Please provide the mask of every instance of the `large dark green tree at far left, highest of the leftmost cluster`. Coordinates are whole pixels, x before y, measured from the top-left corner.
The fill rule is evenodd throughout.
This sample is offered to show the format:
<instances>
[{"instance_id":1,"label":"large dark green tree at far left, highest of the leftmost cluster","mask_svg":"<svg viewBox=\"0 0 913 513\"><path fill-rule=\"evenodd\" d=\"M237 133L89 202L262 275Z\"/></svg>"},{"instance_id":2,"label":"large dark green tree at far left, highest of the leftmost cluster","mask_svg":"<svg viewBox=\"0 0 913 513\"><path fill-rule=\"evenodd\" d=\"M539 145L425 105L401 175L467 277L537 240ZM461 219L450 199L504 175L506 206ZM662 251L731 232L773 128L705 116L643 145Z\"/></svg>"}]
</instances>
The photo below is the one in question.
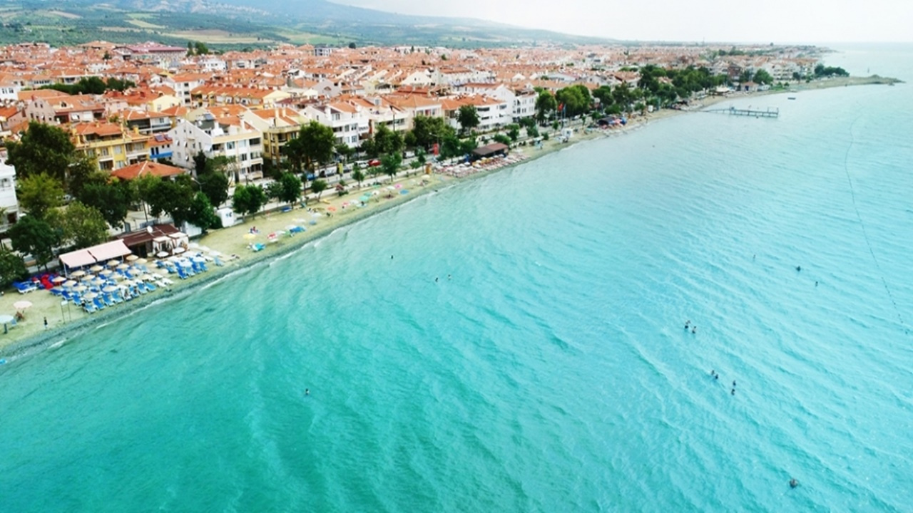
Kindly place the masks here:
<instances>
[{"instance_id":1,"label":"large dark green tree at far left, highest of the leftmost cluster","mask_svg":"<svg viewBox=\"0 0 913 513\"><path fill-rule=\"evenodd\" d=\"M6 142L6 163L16 167L21 180L35 174L47 174L66 183L67 168L73 162L76 148L69 134L58 127L28 122L28 130L18 142Z\"/></svg>"}]
</instances>

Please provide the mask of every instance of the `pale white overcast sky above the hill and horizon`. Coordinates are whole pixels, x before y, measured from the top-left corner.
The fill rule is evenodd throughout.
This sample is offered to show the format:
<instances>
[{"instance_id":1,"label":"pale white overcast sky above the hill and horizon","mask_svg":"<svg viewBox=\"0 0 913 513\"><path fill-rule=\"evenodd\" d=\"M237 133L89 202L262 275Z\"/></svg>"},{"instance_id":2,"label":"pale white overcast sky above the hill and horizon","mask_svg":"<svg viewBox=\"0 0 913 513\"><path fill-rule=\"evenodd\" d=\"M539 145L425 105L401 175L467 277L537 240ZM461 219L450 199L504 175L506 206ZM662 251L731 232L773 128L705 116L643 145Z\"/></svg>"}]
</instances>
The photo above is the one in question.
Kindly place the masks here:
<instances>
[{"instance_id":1,"label":"pale white overcast sky above the hill and horizon","mask_svg":"<svg viewBox=\"0 0 913 513\"><path fill-rule=\"evenodd\" d=\"M910 42L913 0L331 0L581 36L746 43Z\"/></svg>"}]
</instances>

